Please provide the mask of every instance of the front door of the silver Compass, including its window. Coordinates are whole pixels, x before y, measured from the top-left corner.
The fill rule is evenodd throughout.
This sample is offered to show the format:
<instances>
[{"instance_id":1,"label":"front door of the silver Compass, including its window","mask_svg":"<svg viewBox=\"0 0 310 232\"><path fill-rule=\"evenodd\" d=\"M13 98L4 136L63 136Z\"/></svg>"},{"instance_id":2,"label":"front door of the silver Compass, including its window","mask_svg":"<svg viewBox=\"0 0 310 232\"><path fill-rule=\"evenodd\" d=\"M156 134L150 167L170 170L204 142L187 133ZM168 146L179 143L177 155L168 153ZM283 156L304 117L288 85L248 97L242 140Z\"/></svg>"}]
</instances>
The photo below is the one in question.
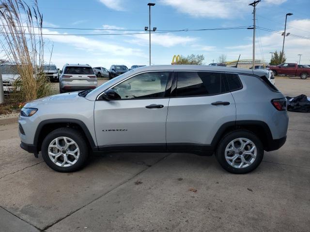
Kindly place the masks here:
<instances>
[{"instance_id":1,"label":"front door of the silver Compass, including its window","mask_svg":"<svg viewBox=\"0 0 310 232\"><path fill-rule=\"evenodd\" d=\"M165 149L172 72L137 74L111 87L121 100L97 100L94 126L100 150Z\"/></svg>"}]
</instances>

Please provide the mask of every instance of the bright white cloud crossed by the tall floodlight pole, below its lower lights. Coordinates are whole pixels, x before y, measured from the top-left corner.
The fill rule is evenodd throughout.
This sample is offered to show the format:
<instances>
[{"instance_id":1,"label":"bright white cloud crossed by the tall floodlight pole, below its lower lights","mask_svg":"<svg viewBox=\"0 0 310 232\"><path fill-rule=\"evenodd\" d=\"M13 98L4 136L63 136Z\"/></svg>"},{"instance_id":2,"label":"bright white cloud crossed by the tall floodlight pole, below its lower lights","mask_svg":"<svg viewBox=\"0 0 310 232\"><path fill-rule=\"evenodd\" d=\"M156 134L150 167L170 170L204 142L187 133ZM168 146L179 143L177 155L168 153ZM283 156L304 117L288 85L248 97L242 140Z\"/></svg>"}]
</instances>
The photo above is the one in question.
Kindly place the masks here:
<instances>
[{"instance_id":1,"label":"bright white cloud crossed by the tall floodlight pole, below its lower lights","mask_svg":"<svg viewBox=\"0 0 310 232\"><path fill-rule=\"evenodd\" d=\"M135 43L139 45L147 45L149 44L149 34L148 33L140 33L136 35L130 35L134 37L132 40L128 40L129 43ZM187 43L192 43L197 41L195 37L189 36L177 36L171 33L167 34L159 34L153 33L151 35L151 43L161 45L164 47L171 47L176 45L186 45Z\"/></svg>"}]
</instances>

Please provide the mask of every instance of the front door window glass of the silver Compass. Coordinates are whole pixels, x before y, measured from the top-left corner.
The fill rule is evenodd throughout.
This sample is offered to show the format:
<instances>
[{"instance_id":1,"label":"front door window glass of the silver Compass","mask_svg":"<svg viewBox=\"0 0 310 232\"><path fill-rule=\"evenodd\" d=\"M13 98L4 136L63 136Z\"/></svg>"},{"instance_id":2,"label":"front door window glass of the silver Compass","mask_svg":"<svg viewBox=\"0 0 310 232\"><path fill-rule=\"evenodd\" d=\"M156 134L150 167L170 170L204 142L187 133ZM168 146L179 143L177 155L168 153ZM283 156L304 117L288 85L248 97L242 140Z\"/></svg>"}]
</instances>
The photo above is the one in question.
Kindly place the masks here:
<instances>
[{"instance_id":1,"label":"front door window glass of the silver Compass","mask_svg":"<svg viewBox=\"0 0 310 232\"><path fill-rule=\"evenodd\" d=\"M136 75L113 87L121 99L163 98L171 72L152 72Z\"/></svg>"}]
</instances>

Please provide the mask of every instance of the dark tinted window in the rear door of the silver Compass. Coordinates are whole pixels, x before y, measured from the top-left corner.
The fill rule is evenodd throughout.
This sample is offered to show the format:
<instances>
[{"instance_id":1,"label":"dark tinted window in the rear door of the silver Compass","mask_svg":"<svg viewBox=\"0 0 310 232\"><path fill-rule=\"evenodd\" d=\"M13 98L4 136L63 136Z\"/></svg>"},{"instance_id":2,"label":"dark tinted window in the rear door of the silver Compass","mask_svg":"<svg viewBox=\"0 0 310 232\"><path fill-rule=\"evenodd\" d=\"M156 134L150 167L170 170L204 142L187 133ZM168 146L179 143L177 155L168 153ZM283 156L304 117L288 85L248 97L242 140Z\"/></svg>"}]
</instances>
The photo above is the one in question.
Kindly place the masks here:
<instances>
[{"instance_id":1,"label":"dark tinted window in the rear door of the silver Compass","mask_svg":"<svg viewBox=\"0 0 310 232\"><path fill-rule=\"evenodd\" d=\"M221 73L178 72L176 96L203 96L225 92Z\"/></svg>"}]
</instances>

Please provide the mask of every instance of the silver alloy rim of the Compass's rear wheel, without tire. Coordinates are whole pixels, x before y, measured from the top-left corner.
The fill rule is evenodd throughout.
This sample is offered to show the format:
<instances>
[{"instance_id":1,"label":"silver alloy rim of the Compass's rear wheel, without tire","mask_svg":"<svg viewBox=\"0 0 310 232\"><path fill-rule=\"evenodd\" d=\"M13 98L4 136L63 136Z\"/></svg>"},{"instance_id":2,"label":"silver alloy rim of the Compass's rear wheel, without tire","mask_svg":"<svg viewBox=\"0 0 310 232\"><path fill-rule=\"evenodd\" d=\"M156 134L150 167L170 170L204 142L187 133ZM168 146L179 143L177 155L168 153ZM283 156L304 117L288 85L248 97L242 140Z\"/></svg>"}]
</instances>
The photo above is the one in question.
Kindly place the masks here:
<instances>
[{"instance_id":1,"label":"silver alloy rim of the Compass's rear wheel, without tire","mask_svg":"<svg viewBox=\"0 0 310 232\"><path fill-rule=\"evenodd\" d=\"M225 148L225 159L234 168L250 166L257 156L255 144L246 138L237 138Z\"/></svg>"}]
</instances>

